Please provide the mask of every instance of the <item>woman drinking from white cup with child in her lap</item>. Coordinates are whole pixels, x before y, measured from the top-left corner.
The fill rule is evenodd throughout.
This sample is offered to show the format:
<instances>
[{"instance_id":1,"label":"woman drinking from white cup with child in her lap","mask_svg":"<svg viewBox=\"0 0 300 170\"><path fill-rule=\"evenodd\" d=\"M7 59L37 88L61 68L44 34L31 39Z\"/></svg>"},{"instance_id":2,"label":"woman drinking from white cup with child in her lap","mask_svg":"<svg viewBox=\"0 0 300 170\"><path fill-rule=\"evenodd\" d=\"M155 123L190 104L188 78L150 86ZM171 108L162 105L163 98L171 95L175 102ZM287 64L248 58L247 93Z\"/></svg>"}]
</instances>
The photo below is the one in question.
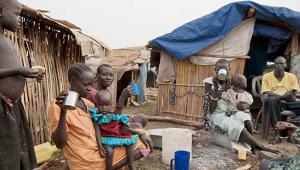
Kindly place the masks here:
<instances>
[{"instance_id":1,"label":"woman drinking from white cup with child in her lap","mask_svg":"<svg viewBox=\"0 0 300 170\"><path fill-rule=\"evenodd\" d=\"M225 78L218 77L223 72ZM224 71L225 70L225 71ZM252 97L245 92L247 81L243 75L229 78L230 63L225 59L216 62L217 76L207 78L204 97L204 121L215 130L227 133L230 140L248 143L253 150L272 151L254 138L249 112Z\"/></svg>"}]
</instances>

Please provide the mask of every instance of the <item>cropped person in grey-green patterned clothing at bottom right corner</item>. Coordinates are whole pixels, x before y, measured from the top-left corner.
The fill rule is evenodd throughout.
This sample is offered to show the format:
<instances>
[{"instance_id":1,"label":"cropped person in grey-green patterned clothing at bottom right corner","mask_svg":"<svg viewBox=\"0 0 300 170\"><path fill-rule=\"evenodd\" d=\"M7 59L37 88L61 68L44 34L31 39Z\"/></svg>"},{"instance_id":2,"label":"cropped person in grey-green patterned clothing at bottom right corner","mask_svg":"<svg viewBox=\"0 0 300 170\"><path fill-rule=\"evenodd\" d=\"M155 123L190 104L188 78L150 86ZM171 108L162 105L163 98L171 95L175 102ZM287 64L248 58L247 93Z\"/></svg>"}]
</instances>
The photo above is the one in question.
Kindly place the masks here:
<instances>
[{"instance_id":1,"label":"cropped person in grey-green patterned clothing at bottom right corner","mask_svg":"<svg viewBox=\"0 0 300 170\"><path fill-rule=\"evenodd\" d=\"M297 145L298 151L294 157L263 160L260 164L260 170L296 170L300 169L300 128L291 136L291 140Z\"/></svg>"}]
</instances>

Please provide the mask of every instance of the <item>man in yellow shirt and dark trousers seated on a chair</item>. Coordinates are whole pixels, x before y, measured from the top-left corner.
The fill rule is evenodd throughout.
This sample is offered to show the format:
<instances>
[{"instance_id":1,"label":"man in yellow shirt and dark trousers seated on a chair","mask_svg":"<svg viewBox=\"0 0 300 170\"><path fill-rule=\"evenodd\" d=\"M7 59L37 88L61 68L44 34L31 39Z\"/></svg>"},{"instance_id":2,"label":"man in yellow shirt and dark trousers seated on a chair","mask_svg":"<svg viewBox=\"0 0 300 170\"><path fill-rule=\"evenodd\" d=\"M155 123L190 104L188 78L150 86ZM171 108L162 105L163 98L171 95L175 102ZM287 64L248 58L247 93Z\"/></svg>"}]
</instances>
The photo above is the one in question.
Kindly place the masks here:
<instances>
[{"instance_id":1,"label":"man in yellow shirt and dark trousers seated on a chair","mask_svg":"<svg viewBox=\"0 0 300 170\"><path fill-rule=\"evenodd\" d=\"M280 113L283 110L300 114L300 102L296 101L300 90L298 80L293 73L285 72L286 68L286 59L279 56L274 60L274 71L262 77L264 112L270 117L273 127L281 120Z\"/></svg>"}]
</instances>

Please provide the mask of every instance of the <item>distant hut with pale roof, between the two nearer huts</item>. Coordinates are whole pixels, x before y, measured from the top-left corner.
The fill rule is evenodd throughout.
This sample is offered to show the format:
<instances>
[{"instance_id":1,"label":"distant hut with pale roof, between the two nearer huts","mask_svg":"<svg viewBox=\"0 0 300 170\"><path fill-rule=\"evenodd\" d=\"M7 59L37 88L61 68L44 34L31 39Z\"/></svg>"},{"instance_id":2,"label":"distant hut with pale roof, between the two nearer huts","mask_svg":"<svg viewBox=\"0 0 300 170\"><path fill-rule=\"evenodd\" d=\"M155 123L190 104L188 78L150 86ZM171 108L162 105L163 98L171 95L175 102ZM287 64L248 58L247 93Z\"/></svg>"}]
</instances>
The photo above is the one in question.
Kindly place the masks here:
<instances>
[{"instance_id":1,"label":"distant hut with pale roof, between the two nearer huts","mask_svg":"<svg viewBox=\"0 0 300 170\"><path fill-rule=\"evenodd\" d=\"M141 103L145 99L147 63L149 51L145 47L128 47L113 49L108 57L104 57L100 64L109 64L113 67L114 80L111 86L113 93L113 104L116 104L122 90L131 82L137 82L140 87L140 94L136 100ZM117 80L117 81L116 81Z\"/></svg>"}]
</instances>

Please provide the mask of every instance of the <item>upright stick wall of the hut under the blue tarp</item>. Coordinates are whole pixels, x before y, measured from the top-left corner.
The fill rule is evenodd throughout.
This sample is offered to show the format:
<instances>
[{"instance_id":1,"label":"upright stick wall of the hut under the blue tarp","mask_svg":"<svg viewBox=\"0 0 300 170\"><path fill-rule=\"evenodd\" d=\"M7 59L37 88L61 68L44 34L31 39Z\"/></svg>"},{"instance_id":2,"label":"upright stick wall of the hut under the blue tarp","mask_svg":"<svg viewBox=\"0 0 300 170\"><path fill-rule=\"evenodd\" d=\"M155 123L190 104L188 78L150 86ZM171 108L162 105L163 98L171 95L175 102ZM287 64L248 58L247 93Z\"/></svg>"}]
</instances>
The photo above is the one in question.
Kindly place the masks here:
<instances>
[{"instance_id":1,"label":"upright stick wall of the hut under the blue tarp","mask_svg":"<svg viewBox=\"0 0 300 170\"><path fill-rule=\"evenodd\" d=\"M242 74L245 58L231 61L231 75ZM186 120L199 120L203 116L204 85L202 81L215 74L213 65L195 65L189 59L174 60L176 84L158 84L158 113L173 114ZM175 100L174 97L176 96Z\"/></svg>"}]
</instances>

